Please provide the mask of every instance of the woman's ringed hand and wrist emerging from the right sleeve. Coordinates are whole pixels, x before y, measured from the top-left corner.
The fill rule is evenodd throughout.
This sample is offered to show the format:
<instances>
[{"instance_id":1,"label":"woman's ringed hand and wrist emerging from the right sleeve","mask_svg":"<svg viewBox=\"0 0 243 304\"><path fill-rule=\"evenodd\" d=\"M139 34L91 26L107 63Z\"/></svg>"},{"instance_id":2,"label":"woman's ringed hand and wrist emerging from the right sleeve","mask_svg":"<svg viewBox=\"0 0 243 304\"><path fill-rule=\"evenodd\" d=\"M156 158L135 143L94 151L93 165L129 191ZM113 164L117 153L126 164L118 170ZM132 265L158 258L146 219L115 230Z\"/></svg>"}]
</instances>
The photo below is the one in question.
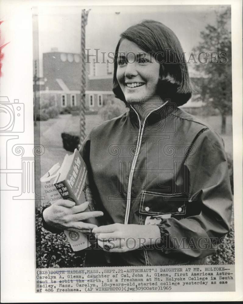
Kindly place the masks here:
<instances>
[{"instance_id":1,"label":"woman's ringed hand and wrist emerging from the right sleeve","mask_svg":"<svg viewBox=\"0 0 243 304\"><path fill-rule=\"evenodd\" d=\"M126 252L146 245L160 243L160 229L157 225L112 224L92 230L98 244L105 251Z\"/></svg>"}]
</instances>

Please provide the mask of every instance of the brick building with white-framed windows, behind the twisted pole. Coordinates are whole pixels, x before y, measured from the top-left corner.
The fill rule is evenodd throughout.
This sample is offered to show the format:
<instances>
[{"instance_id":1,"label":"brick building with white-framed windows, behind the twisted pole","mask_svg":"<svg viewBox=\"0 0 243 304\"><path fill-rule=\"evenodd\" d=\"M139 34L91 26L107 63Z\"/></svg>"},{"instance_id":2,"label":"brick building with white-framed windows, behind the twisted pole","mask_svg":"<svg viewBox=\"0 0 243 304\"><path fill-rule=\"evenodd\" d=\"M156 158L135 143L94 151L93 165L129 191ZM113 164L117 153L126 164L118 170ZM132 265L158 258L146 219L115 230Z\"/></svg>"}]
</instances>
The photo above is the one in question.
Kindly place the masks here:
<instances>
[{"instance_id":1,"label":"brick building with white-framed windows, behind the twisted pole","mask_svg":"<svg viewBox=\"0 0 243 304\"><path fill-rule=\"evenodd\" d=\"M90 70L93 76L90 76ZM40 102L55 100L59 111L79 106L81 62L79 54L57 51L43 54L43 78L40 84ZM95 76L92 64L86 64L86 109L97 112L108 101L115 99L113 78L109 73Z\"/></svg>"}]
</instances>

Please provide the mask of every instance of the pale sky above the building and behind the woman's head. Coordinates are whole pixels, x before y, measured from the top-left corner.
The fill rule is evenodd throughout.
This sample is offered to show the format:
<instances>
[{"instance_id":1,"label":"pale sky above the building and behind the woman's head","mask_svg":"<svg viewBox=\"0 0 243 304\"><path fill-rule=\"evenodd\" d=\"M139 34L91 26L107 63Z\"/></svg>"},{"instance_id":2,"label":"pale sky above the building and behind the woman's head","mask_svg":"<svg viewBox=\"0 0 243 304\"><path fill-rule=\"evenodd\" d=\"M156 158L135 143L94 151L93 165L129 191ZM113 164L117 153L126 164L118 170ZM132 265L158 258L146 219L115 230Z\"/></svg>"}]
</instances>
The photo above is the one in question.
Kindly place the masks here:
<instances>
[{"instance_id":1,"label":"pale sky above the building and behind the woman's head","mask_svg":"<svg viewBox=\"0 0 243 304\"><path fill-rule=\"evenodd\" d=\"M129 26L143 19L153 19L171 28L189 54L200 41L200 32L207 24L215 24L215 12L223 12L223 5L131 5L90 6L86 26L86 48L99 48L100 52L114 52L119 35ZM38 8L37 26L33 26L34 39L39 36L39 58L57 48L60 52L80 53L82 7ZM118 14L119 13L119 14ZM35 57L35 55L34 55ZM35 59L35 58L34 58ZM41 66L41 61L40 61ZM104 74L106 65L97 67ZM40 69L40 75L42 71ZM42 76L42 75L41 75Z\"/></svg>"}]
</instances>

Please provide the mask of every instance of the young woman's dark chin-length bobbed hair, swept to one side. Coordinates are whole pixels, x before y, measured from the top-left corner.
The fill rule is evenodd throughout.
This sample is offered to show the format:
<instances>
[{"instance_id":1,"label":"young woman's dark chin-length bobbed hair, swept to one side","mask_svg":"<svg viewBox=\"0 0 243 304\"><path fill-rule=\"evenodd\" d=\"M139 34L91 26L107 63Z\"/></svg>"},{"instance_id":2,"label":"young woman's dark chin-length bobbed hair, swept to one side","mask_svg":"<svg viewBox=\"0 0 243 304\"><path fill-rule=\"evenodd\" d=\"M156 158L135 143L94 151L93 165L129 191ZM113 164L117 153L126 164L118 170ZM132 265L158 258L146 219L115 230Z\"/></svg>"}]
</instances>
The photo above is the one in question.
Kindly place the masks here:
<instances>
[{"instance_id":1,"label":"young woman's dark chin-length bobbed hair, swept to one side","mask_svg":"<svg viewBox=\"0 0 243 304\"><path fill-rule=\"evenodd\" d=\"M127 104L116 78L118 50L123 39L136 43L153 57L156 54L160 63L160 81L157 87L157 95L160 98L170 99L177 106L183 105L191 98L192 87L181 43L171 29L154 20L144 20L130 26L121 34L114 57L113 92L116 98Z\"/></svg>"}]
</instances>

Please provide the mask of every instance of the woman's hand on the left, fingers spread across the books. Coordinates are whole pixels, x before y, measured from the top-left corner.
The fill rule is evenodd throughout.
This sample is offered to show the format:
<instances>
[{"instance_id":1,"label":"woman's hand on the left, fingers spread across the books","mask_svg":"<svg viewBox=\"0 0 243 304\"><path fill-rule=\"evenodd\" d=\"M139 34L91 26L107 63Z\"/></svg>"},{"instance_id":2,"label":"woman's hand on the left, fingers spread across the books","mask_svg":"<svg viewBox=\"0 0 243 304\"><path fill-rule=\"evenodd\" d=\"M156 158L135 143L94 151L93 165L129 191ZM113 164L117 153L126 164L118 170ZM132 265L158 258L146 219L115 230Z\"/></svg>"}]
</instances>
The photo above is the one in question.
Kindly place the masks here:
<instances>
[{"instance_id":1,"label":"woman's hand on the left, fingers spread across the books","mask_svg":"<svg viewBox=\"0 0 243 304\"><path fill-rule=\"evenodd\" d=\"M79 206L75 206L75 202L67 199L59 199L43 211L43 218L48 225L57 229L78 229L81 232L90 233L91 230L97 226L89 223L83 223L81 221L91 217L103 216L103 212L84 212L88 206L89 202L84 202Z\"/></svg>"}]
</instances>

